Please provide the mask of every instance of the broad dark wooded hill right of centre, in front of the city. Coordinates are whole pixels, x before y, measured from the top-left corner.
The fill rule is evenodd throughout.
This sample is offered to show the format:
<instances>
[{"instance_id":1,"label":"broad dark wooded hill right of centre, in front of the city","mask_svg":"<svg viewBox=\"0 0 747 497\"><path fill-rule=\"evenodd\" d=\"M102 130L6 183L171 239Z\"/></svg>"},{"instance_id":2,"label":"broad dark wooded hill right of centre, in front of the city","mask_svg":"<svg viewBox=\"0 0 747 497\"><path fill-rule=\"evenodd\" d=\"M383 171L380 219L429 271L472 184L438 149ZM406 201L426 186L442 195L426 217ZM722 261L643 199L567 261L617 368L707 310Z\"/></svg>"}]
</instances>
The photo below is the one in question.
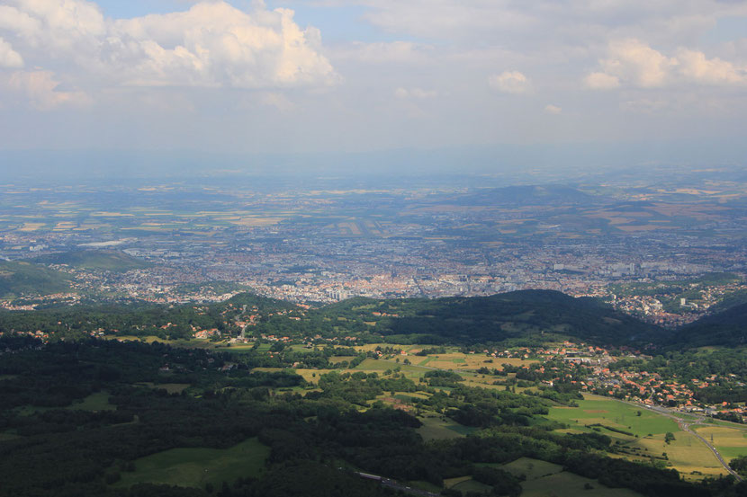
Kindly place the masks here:
<instances>
[{"instance_id":1,"label":"broad dark wooded hill right of centre, in front of the city","mask_svg":"<svg viewBox=\"0 0 747 497\"><path fill-rule=\"evenodd\" d=\"M611 307L550 290L522 290L491 297L375 300L354 298L322 309L327 315L375 321L389 339L479 343L512 338L542 340L558 334L622 345L662 337L661 328Z\"/></svg>"}]
</instances>

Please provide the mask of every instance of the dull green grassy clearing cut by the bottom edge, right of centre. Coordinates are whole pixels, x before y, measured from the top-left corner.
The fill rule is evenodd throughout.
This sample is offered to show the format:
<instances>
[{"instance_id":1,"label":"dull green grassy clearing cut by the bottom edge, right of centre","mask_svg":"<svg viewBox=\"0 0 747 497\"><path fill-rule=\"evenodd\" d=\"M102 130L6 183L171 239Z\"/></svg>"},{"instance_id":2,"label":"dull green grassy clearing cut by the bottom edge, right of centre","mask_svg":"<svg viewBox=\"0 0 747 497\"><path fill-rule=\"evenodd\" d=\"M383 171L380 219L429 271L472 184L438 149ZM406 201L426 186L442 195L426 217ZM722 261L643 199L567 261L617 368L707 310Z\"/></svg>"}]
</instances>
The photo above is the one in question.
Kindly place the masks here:
<instances>
[{"instance_id":1,"label":"dull green grassy clearing cut by the bottom edge, right of centre","mask_svg":"<svg viewBox=\"0 0 747 497\"><path fill-rule=\"evenodd\" d=\"M584 486L587 484L593 488L585 489ZM588 495L589 497L641 497L640 493L635 493L632 490L609 488L599 484L596 480L590 480L567 471L527 480L521 486L524 489L521 497L578 497L579 495Z\"/></svg>"}]
</instances>

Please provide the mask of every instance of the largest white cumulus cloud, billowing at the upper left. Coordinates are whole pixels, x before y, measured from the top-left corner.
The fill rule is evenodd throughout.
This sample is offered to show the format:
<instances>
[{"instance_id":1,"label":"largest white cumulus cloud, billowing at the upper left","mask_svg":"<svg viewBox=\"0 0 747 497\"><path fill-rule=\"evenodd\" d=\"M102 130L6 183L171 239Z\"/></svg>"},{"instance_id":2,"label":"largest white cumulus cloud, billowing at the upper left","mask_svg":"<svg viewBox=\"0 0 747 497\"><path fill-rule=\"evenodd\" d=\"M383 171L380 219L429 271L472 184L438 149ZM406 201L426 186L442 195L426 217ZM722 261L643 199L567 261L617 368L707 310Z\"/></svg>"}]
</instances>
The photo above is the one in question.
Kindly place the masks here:
<instances>
[{"instance_id":1,"label":"largest white cumulus cloud, billowing at the upper left","mask_svg":"<svg viewBox=\"0 0 747 497\"><path fill-rule=\"evenodd\" d=\"M293 11L251 13L222 1L185 12L105 18L85 0L8 0L0 33L29 63L66 67L66 81L102 86L287 88L335 84L320 31Z\"/></svg>"}]
</instances>

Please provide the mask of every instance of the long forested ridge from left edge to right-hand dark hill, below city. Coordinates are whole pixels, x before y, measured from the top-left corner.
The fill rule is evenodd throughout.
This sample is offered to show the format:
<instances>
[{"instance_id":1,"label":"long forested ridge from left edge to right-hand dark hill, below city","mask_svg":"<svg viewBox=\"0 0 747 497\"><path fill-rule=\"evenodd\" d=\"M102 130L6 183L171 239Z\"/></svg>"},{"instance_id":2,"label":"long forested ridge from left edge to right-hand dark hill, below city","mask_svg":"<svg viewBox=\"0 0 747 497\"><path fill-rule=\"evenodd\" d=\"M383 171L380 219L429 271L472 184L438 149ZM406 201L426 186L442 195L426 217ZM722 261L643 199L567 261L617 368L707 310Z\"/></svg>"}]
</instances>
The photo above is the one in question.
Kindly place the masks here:
<instances>
[{"instance_id":1,"label":"long forested ridge from left edge to right-hand dark hill, below city","mask_svg":"<svg viewBox=\"0 0 747 497\"><path fill-rule=\"evenodd\" d=\"M236 315L254 313L250 333L293 338L356 336L359 342L473 346L541 343L571 338L604 345L644 346L669 332L589 298L524 290L491 297L373 299L356 297L306 309L242 293L212 305L61 306L3 313L0 332L91 333L190 338L196 329L237 333Z\"/></svg>"}]
</instances>

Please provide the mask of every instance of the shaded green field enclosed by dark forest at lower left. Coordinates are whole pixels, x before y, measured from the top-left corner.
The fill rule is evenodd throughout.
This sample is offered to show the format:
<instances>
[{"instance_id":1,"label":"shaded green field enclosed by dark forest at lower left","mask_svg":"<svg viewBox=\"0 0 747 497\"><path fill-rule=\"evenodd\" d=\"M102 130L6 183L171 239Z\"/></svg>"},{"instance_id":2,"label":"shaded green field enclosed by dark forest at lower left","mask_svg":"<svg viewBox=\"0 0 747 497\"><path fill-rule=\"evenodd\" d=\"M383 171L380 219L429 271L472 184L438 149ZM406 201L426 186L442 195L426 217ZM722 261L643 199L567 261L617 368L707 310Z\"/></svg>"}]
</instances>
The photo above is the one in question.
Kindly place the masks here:
<instances>
[{"instance_id":1,"label":"shaded green field enclosed by dark forest at lower left","mask_svg":"<svg viewBox=\"0 0 747 497\"><path fill-rule=\"evenodd\" d=\"M133 484L169 484L203 488L239 477L257 477L270 449L257 439L247 439L231 448L172 448L135 461L133 473L121 473L116 487Z\"/></svg>"}]
</instances>

